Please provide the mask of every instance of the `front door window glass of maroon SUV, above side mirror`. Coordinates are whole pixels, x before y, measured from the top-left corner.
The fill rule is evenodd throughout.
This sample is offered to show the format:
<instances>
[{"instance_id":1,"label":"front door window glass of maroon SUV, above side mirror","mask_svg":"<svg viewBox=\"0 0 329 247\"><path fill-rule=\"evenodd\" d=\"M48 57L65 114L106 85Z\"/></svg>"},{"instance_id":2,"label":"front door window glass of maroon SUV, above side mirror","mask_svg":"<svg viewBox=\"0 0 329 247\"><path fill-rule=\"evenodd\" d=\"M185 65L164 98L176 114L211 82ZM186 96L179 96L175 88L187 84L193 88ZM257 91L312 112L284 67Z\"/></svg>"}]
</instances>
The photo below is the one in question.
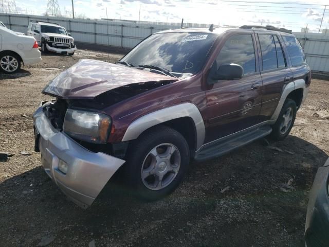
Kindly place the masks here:
<instances>
[{"instance_id":1,"label":"front door window glass of maroon SUV, above side mirror","mask_svg":"<svg viewBox=\"0 0 329 247\"><path fill-rule=\"evenodd\" d=\"M243 67L244 74L256 72L255 51L251 34L236 34L224 44L216 58L217 67L236 63Z\"/></svg>"}]
</instances>

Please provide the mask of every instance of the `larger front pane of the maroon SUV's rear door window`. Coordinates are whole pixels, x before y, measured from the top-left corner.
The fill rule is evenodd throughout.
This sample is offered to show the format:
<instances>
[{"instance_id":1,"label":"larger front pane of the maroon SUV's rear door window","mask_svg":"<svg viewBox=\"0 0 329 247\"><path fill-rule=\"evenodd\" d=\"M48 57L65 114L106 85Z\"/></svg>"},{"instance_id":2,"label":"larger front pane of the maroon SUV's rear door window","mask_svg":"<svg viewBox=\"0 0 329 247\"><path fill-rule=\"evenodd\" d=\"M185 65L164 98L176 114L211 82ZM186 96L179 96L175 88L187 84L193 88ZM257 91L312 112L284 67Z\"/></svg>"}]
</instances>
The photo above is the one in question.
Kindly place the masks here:
<instances>
[{"instance_id":1,"label":"larger front pane of the maroon SUV's rear door window","mask_svg":"<svg viewBox=\"0 0 329 247\"><path fill-rule=\"evenodd\" d=\"M262 51L263 70L278 68L276 45L271 34L258 34Z\"/></svg>"}]
</instances>

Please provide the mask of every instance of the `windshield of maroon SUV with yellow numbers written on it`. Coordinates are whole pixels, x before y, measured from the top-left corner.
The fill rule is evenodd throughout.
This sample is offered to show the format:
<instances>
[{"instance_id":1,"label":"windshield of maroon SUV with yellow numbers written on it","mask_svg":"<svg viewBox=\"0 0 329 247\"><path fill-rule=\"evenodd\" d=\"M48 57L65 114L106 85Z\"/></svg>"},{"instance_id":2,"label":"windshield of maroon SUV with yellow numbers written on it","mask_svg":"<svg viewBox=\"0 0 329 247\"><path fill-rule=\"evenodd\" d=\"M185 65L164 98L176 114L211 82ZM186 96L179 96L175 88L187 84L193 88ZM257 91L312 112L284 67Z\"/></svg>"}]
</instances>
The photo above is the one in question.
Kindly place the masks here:
<instances>
[{"instance_id":1,"label":"windshield of maroon SUV with yellow numbers written on it","mask_svg":"<svg viewBox=\"0 0 329 247\"><path fill-rule=\"evenodd\" d=\"M121 61L134 66L153 65L172 73L195 75L204 65L216 34L170 32L153 34Z\"/></svg>"}]
</instances>

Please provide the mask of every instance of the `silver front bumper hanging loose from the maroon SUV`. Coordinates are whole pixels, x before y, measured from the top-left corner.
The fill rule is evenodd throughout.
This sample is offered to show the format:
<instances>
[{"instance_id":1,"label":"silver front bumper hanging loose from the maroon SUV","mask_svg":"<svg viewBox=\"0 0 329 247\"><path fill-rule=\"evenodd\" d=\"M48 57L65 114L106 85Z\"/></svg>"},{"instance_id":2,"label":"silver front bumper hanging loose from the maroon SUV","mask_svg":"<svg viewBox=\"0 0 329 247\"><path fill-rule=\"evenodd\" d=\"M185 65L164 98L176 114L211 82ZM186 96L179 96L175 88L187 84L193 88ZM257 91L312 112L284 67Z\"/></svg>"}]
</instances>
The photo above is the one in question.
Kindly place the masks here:
<instances>
[{"instance_id":1,"label":"silver front bumper hanging loose from the maroon SUV","mask_svg":"<svg viewBox=\"0 0 329 247\"><path fill-rule=\"evenodd\" d=\"M90 206L107 181L125 162L105 153L91 152L49 122L42 107L33 114L42 165L49 177L68 198L79 206ZM68 164L66 174L58 169L59 161Z\"/></svg>"}]
</instances>

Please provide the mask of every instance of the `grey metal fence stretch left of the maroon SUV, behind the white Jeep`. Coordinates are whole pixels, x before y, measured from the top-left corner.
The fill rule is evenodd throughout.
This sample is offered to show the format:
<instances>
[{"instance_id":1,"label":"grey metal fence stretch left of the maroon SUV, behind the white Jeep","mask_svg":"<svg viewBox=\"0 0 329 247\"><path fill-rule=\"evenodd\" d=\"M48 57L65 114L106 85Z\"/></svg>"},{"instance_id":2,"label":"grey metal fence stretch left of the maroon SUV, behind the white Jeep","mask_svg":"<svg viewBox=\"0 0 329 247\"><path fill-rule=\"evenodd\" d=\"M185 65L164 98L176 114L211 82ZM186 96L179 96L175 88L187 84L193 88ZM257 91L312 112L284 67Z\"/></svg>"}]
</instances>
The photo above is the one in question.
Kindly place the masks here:
<instances>
[{"instance_id":1,"label":"grey metal fence stretch left of the maroon SUV, behind the white Jeep","mask_svg":"<svg viewBox=\"0 0 329 247\"><path fill-rule=\"evenodd\" d=\"M25 34L31 20L58 23L65 27L77 42L124 48L134 47L154 32L179 28L179 26L173 25L135 24L120 21L0 13L0 21L9 29L24 32Z\"/></svg>"}]
</instances>

